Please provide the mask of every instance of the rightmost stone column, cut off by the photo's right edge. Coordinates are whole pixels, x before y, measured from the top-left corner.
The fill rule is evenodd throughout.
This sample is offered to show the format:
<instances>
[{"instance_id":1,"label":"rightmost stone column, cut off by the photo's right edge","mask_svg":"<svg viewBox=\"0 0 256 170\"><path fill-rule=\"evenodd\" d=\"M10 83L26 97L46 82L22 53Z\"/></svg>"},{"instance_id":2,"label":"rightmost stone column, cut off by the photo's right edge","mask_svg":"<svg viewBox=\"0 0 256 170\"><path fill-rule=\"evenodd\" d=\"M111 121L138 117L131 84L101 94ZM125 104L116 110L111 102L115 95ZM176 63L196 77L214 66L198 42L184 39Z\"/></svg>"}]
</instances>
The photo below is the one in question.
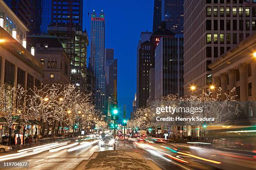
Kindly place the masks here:
<instances>
[{"instance_id":1,"label":"rightmost stone column, cut off by the photo's right edge","mask_svg":"<svg viewBox=\"0 0 256 170\"><path fill-rule=\"evenodd\" d=\"M251 62L251 97L252 97L252 107L253 107L253 117L256 117L256 62L253 60Z\"/></svg>"}]
</instances>

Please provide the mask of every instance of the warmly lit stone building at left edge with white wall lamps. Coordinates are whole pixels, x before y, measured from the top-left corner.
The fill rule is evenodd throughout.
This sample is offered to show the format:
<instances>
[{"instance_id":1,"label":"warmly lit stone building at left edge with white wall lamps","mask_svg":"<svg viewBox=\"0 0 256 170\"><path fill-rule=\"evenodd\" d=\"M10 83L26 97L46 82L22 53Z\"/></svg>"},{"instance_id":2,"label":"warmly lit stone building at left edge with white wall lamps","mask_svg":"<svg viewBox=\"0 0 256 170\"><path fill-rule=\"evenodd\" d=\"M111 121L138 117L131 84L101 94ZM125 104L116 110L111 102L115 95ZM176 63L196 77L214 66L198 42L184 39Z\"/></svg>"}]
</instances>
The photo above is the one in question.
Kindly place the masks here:
<instances>
[{"instance_id":1,"label":"warmly lit stone building at left edge with white wall lamps","mask_svg":"<svg viewBox=\"0 0 256 170\"><path fill-rule=\"evenodd\" d=\"M5 87L21 85L25 90L41 88L44 72L41 62L26 50L26 35L29 29L19 20L8 5L0 1L0 84ZM15 121L14 130L20 122ZM31 120L25 135L40 133L41 122ZM0 115L0 137L8 134L8 125ZM16 134L18 135L18 134ZM20 137L23 138L23 132ZM22 140L22 139L21 139Z\"/></svg>"}]
</instances>

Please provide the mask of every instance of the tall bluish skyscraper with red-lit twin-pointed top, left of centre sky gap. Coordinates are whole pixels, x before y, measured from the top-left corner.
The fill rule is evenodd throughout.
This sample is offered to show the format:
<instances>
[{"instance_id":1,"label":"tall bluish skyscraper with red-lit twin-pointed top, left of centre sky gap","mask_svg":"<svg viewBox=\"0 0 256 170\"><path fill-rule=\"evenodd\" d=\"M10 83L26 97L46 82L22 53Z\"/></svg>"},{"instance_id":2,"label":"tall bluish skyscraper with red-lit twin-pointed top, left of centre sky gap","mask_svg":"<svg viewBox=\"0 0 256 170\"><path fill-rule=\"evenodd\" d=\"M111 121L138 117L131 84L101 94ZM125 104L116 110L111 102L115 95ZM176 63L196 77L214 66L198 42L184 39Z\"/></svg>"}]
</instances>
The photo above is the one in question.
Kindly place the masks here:
<instances>
[{"instance_id":1,"label":"tall bluish skyscraper with red-lit twin-pointed top, left of centre sky gap","mask_svg":"<svg viewBox=\"0 0 256 170\"><path fill-rule=\"evenodd\" d=\"M97 17L95 10L91 15L91 50L90 66L92 67L96 78L96 106L102 112L107 114L105 108L105 15L101 11Z\"/></svg>"}]
</instances>

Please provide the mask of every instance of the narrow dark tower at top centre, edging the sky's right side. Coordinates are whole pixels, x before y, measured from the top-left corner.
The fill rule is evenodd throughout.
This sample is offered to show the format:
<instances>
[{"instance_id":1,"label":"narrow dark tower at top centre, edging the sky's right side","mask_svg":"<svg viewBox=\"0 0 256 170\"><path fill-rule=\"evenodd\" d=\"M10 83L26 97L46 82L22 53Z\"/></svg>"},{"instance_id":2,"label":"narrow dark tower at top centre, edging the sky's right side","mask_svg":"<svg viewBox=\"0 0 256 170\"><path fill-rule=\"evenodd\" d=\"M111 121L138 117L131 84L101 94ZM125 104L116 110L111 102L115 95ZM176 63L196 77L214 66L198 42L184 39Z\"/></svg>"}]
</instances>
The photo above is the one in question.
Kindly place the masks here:
<instances>
[{"instance_id":1,"label":"narrow dark tower at top centre, edging the sky's right side","mask_svg":"<svg viewBox=\"0 0 256 170\"><path fill-rule=\"evenodd\" d=\"M162 22L162 0L154 1L153 32L160 28Z\"/></svg>"}]
</instances>

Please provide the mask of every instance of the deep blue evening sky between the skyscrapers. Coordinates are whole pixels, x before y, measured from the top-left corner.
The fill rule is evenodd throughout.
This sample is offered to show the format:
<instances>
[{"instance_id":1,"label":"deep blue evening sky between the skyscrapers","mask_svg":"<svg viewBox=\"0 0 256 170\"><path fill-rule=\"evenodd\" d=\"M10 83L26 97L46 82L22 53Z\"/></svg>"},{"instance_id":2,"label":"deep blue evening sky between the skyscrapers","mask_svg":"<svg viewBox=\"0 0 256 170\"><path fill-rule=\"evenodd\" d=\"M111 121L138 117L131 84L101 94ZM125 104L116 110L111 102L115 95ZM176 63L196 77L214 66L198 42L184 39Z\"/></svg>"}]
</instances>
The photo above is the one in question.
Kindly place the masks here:
<instances>
[{"instance_id":1,"label":"deep blue evening sky between the skyscrapers","mask_svg":"<svg viewBox=\"0 0 256 170\"><path fill-rule=\"evenodd\" d=\"M105 48L114 48L114 57L118 59L118 108L123 114L126 105L126 117L130 118L136 93L137 44L141 31L152 31L154 0L84 0L83 26L89 41L90 16L94 9L97 16L101 10L105 13ZM88 61L90 46L87 51Z\"/></svg>"}]
</instances>

